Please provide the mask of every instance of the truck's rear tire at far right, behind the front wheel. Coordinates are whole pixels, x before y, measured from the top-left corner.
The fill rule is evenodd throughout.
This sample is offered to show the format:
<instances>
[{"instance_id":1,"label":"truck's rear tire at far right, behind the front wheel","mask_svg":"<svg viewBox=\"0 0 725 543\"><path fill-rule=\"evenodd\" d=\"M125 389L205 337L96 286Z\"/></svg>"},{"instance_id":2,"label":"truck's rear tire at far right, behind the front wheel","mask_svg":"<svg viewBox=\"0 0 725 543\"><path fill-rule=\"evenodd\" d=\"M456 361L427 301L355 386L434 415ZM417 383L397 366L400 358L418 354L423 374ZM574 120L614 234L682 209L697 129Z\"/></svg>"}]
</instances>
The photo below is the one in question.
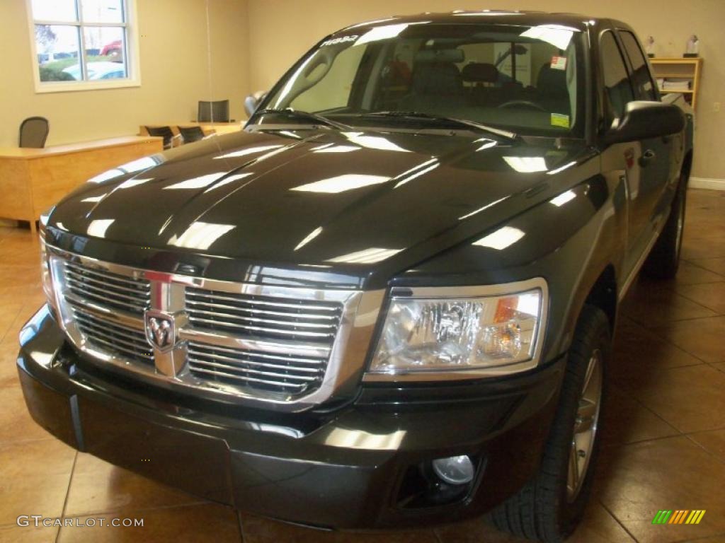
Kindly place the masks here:
<instances>
[{"instance_id":1,"label":"truck's rear tire at far right, behind the front wheel","mask_svg":"<svg viewBox=\"0 0 725 543\"><path fill-rule=\"evenodd\" d=\"M672 201L672 210L665 227L660 232L655 246L647 256L642 271L648 277L672 279L679 269L682 234L684 232L684 214L687 204L687 183L681 180L677 194Z\"/></svg>"}]
</instances>

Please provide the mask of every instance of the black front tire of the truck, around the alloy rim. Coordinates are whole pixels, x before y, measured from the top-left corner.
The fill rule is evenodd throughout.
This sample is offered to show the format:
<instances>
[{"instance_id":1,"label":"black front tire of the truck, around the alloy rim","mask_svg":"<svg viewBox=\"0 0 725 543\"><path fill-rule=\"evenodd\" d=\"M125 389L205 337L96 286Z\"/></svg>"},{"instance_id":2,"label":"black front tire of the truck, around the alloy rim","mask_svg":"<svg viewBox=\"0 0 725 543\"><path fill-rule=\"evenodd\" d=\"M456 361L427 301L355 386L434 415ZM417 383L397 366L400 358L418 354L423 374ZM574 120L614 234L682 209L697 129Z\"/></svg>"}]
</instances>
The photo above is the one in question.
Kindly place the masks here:
<instances>
[{"instance_id":1,"label":"black front tire of the truck, around the alloy rim","mask_svg":"<svg viewBox=\"0 0 725 543\"><path fill-rule=\"evenodd\" d=\"M590 361L597 352L601 355L601 386L595 432L581 484L570 495L568 468L575 439L574 426L581 420L577 416L580 402L584 401L582 388L587 380ZM563 542L576 529L592 489L601 434L601 406L605 400L605 371L610 356L611 333L607 316L600 308L584 306L568 353L559 405L539 473L518 494L492 511L490 518L498 529L545 543ZM581 456L575 458L579 461Z\"/></svg>"}]
</instances>

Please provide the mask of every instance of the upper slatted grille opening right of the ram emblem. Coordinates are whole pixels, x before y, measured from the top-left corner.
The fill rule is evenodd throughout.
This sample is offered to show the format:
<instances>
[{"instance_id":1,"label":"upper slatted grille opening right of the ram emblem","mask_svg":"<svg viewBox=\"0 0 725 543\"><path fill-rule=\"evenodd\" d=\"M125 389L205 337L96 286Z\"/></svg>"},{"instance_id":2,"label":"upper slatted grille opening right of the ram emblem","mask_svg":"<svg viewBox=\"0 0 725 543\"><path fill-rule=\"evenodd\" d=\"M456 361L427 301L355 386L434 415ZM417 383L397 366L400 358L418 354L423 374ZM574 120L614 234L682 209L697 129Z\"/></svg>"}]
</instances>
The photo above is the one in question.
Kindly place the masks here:
<instances>
[{"instance_id":1,"label":"upper slatted grille opening right of the ram emblem","mask_svg":"<svg viewBox=\"0 0 725 543\"><path fill-rule=\"evenodd\" d=\"M342 304L189 288L186 312L197 329L331 345L340 324Z\"/></svg>"}]
</instances>

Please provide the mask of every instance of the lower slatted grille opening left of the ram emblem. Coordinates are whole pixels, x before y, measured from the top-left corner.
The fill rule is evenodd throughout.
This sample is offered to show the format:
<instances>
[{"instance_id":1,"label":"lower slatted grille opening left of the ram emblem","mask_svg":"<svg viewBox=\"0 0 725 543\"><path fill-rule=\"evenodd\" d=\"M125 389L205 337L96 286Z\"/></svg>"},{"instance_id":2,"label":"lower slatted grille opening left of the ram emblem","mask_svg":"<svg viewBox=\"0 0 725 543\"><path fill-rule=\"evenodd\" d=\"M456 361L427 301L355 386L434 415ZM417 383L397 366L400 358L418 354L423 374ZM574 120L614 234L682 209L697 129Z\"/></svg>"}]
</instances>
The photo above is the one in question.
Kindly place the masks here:
<instances>
[{"instance_id":1,"label":"lower slatted grille opening left of the ram emblem","mask_svg":"<svg viewBox=\"0 0 725 543\"><path fill-rule=\"evenodd\" d=\"M154 353L143 331L101 319L75 304L72 311L78 329L94 348L154 365Z\"/></svg>"}]
</instances>

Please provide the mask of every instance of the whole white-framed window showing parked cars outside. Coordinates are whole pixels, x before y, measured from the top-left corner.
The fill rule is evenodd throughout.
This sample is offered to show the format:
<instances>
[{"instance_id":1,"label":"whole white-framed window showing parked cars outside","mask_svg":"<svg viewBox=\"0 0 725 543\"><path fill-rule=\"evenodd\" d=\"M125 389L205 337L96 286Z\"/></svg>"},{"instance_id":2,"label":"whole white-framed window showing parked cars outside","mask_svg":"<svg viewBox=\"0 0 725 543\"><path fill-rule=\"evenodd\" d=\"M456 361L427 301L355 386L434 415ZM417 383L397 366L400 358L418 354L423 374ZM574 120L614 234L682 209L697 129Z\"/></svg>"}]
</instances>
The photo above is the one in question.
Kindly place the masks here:
<instances>
[{"instance_id":1,"label":"whole white-framed window showing parked cars outside","mask_svg":"<svg viewBox=\"0 0 725 543\"><path fill-rule=\"evenodd\" d=\"M28 0L36 88L80 90L138 84L130 0Z\"/></svg>"}]
</instances>

